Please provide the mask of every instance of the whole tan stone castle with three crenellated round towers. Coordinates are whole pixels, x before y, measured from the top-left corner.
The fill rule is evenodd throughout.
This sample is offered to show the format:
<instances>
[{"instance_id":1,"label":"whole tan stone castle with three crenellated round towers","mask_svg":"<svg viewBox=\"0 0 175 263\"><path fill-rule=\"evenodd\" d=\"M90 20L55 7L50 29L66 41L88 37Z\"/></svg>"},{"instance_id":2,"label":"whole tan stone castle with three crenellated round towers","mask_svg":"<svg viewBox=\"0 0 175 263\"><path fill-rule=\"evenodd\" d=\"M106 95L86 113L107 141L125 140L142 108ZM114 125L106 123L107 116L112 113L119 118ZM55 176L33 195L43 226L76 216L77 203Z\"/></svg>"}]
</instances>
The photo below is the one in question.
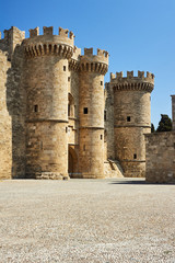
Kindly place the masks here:
<instances>
[{"instance_id":1,"label":"whole tan stone castle with three crenellated round towers","mask_svg":"<svg viewBox=\"0 0 175 263\"><path fill-rule=\"evenodd\" d=\"M154 75L112 73L104 89L107 52L43 31L0 39L0 178L144 176Z\"/></svg>"}]
</instances>

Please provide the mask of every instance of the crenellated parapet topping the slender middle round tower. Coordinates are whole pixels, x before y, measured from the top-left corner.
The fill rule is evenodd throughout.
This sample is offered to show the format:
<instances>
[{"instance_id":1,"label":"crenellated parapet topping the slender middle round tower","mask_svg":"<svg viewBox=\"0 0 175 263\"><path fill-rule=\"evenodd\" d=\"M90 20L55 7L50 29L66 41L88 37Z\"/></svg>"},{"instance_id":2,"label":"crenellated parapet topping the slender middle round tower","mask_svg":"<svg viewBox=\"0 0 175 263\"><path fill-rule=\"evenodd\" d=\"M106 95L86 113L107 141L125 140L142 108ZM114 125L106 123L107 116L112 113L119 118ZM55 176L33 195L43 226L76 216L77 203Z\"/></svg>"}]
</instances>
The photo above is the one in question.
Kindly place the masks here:
<instances>
[{"instance_id":1,"label":"crenellated parapet topping the slender middle round tower","mask_svg":"<svg viewBox=\"0 0 175 263\"><path fill-rule=\"evenodd\" d=\"M84 48L84 55L80 57L80 70L105 75L108 70L108 53L97 48L97 55L93 55L93 48Z\"/></svg>"}]
</instances>

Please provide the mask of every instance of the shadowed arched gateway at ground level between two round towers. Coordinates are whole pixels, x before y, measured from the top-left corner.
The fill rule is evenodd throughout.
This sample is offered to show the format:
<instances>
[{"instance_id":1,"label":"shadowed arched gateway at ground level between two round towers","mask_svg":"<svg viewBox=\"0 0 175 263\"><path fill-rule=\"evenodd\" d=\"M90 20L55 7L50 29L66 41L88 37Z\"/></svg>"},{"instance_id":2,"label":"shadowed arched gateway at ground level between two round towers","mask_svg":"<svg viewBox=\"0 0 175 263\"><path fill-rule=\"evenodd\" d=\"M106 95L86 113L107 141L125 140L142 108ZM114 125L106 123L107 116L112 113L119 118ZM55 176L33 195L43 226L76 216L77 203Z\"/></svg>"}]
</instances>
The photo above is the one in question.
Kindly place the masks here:
<instances>
[{"instance_id":1,"label":"shadowed arched gateway at ground level between two round towers","mask_svg":"<svg viewBox=\"0 0 175 263\"><path fill-rule=\"evenodd\" d=\"M78 156L72 146L69 146L68 173L70 178L74 178L78 173Z\"/></svg>"}]
</instances>

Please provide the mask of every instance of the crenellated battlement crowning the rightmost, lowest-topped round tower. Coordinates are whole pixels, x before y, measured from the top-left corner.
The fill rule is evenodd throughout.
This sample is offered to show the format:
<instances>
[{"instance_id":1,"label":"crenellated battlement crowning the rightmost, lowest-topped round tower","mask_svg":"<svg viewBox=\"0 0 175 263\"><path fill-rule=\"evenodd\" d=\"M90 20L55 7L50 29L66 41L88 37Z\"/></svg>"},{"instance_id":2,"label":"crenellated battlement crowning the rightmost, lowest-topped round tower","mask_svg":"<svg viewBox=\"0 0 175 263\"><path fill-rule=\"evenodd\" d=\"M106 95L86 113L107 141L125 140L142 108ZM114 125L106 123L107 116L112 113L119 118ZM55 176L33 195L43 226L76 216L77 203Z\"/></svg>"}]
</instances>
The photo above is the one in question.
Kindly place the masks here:
<instances>
[{"instance_id":1,"label":"crenellated battlement crowning the rightmost, lowest-topped round tower","mask_svg":"<svg viewBox=\"0 0 175 263\"><path fill-rule=\"evenodd\" d=\"M127 77L124 77L124 72L110 73L110 84L117 90L148 90L152 91L154 87L154 75L147 71L139 71L138 75L133 75L132 71L127 71Z\"/></svg>"}]
</instances>

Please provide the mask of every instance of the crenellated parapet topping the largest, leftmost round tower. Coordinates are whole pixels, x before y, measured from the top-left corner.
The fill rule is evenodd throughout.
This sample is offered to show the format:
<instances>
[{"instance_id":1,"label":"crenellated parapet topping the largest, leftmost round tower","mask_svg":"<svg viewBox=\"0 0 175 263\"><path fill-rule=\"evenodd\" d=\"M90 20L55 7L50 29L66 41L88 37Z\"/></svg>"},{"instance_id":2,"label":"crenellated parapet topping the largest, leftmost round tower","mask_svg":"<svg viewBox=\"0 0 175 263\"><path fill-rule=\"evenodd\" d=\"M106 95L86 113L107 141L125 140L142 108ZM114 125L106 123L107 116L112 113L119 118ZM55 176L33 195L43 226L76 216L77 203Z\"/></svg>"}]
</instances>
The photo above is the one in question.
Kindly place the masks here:
<instances>
[{"instance_id":1,"label":"crenellated parapet topping the largest, leftmost round tower","mask_svg":"<svg viewBox=\"0 0 175 263\"><path fill-rule=\"evenodd\" d=\"M39 27L30 30L30 38L23 41L27 58L44 55L71 58L74 46L73 33L59 27L59 35L54 35L52 30L52 26L44 26L43 35L39 35Z\"/></svg>"}]
</instances>

